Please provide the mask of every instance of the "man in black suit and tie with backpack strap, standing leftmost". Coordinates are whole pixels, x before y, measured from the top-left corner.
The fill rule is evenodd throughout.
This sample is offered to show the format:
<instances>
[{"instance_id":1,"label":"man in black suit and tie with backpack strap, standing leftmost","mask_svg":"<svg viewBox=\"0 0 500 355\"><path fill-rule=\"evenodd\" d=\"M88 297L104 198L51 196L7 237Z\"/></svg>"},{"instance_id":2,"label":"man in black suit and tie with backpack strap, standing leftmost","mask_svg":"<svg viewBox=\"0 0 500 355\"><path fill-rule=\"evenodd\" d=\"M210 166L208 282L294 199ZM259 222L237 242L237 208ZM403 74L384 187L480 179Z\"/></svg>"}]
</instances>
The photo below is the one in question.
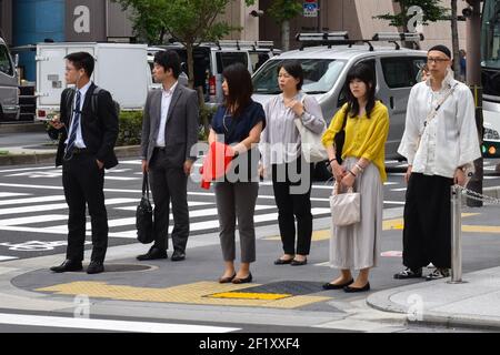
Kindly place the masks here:
<instances>
[{"instance_id":1,"label":"man in black suit and tie with backpack strap, standing leftmost","mask_svg":"<svg viewBox=\"0 0 500 355\"><path fill-rule=\"evenodd\" d=\"M62 165L62 185L69 206L67 258L50 270L82 270L86 241L86 204L92 224L92 255L88 274L104 271L108 214L104 206L104 168L118 164L113 148L118 138L118 112L111 94L90 81L94 67L87 52L66 57L66 81L74 84L61 94L60 118L50 121L49 135L59 136L56 166ZM96 93L94 93L96 91ZM97 100L97 104L96 101Z\"/></svg>"}]
</instances>

